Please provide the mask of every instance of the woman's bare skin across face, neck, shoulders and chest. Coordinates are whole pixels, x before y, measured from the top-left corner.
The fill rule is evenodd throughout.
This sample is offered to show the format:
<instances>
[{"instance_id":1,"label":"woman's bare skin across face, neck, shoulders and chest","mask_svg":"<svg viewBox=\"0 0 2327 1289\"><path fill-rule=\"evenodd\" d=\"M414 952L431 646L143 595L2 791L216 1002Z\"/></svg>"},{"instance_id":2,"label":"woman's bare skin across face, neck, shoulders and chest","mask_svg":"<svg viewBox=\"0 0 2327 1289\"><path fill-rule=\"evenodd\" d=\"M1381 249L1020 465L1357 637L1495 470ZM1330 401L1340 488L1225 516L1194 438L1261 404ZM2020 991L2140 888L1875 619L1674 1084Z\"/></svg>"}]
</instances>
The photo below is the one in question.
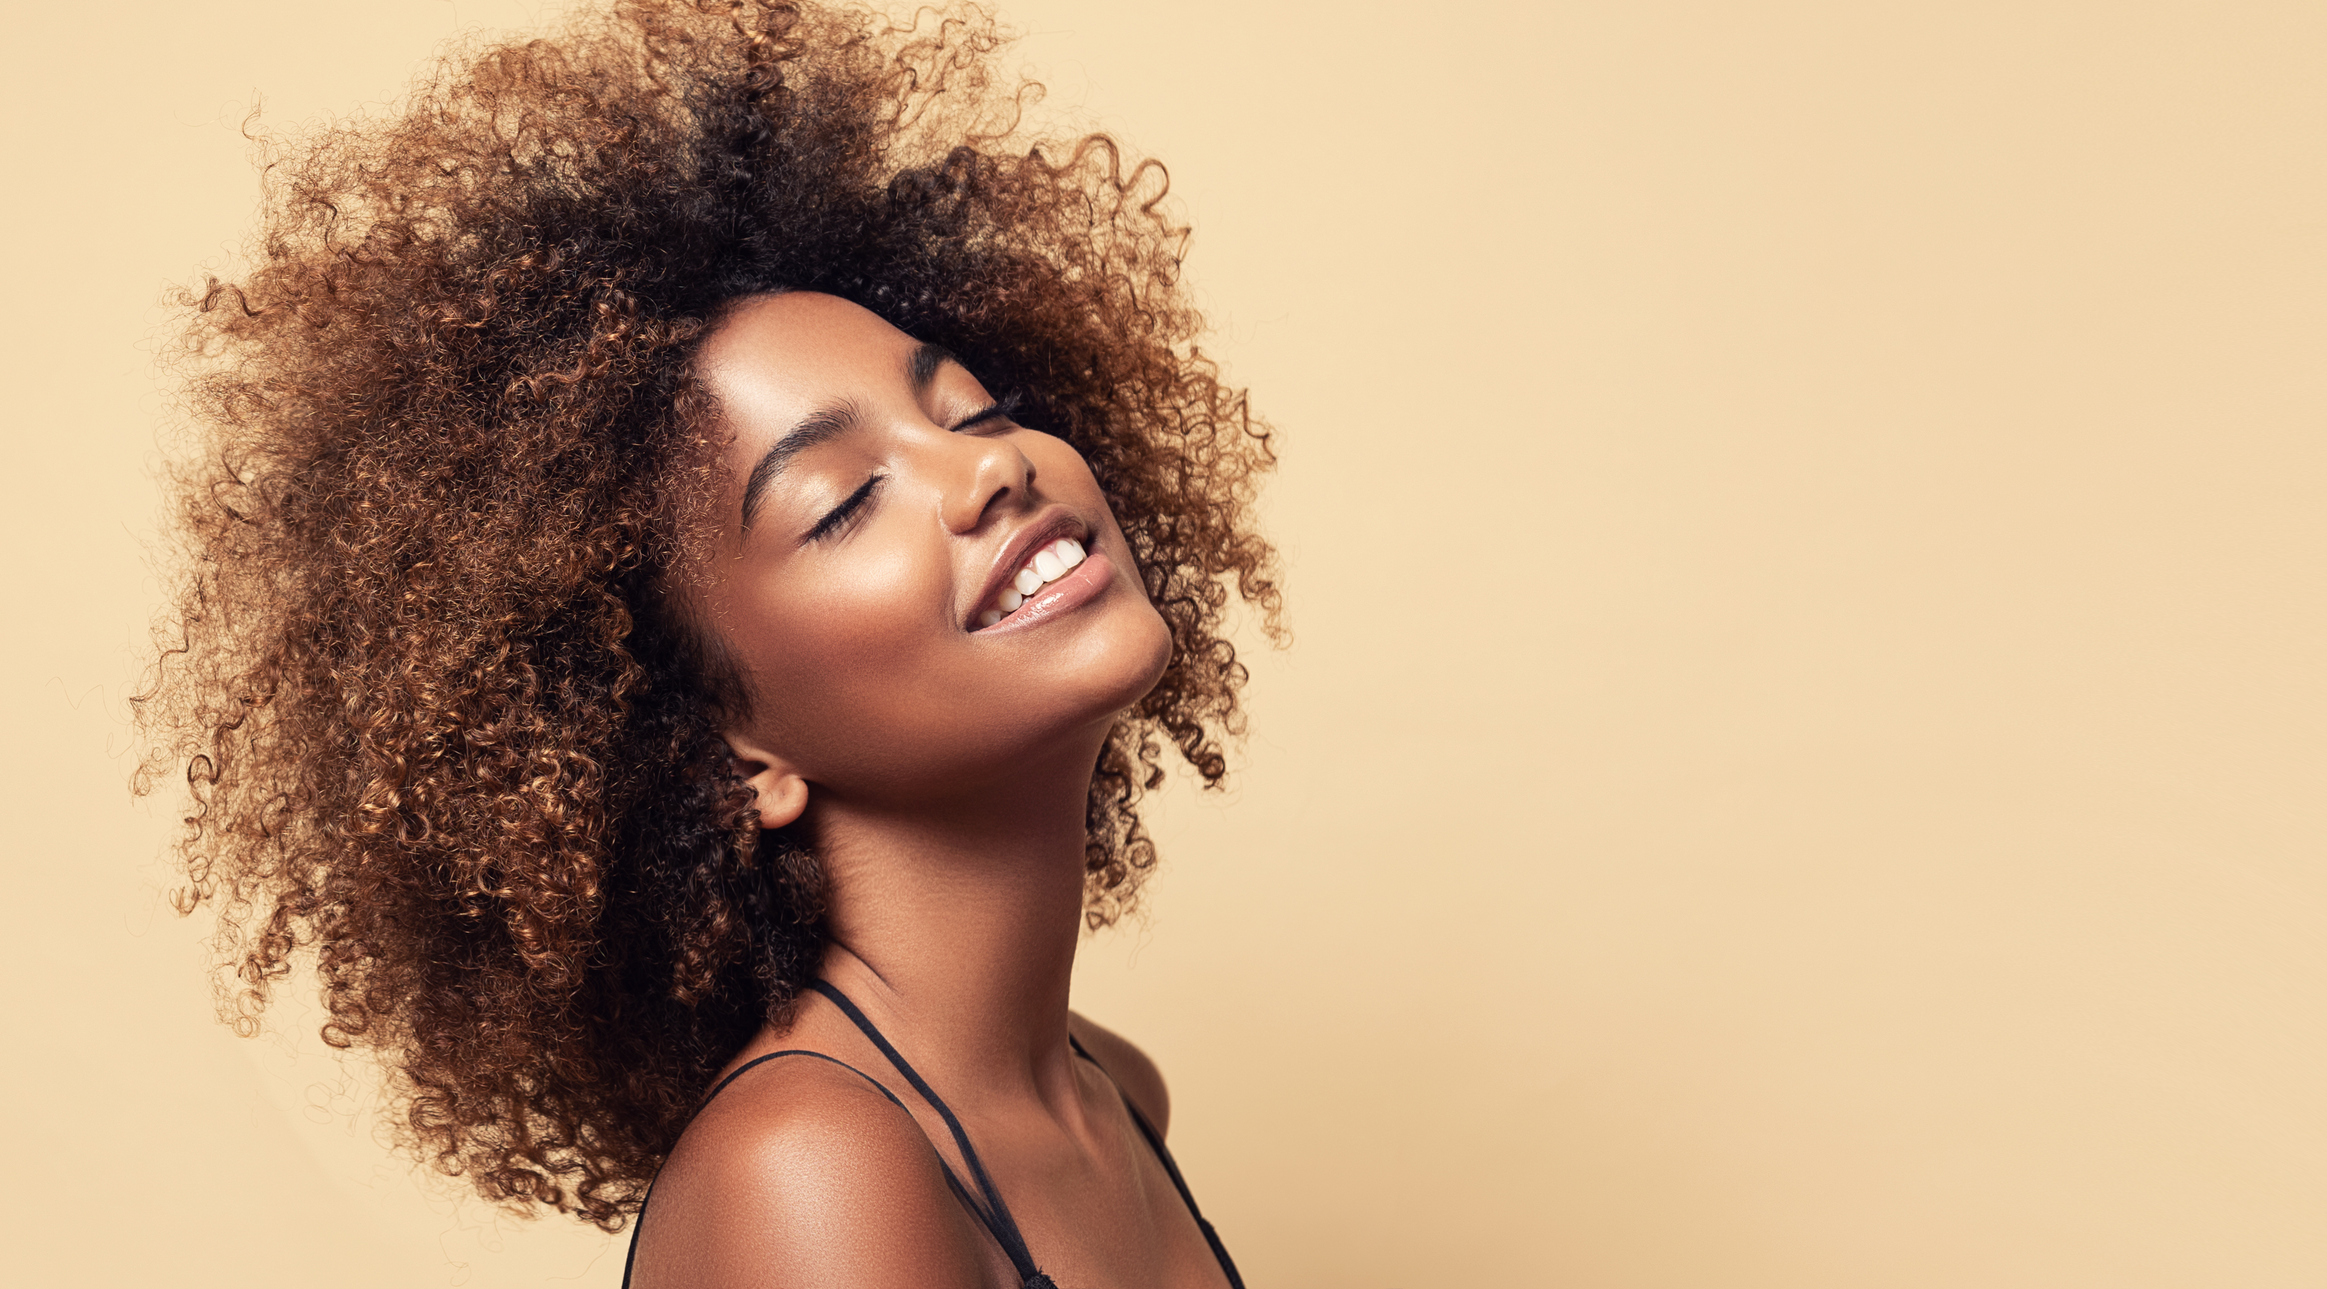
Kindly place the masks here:
<instances>
[{"instance_id":1,"label":"woman's bare skin across face, neck, shoulders and chest","mask_svg":"<svg viewBox=\"0 0 2327 1289\"><path fill-rule=\"evenodd\" d=\"M833 295L740 305L700 370L733 444L696 612L745 672L726 735L761 826L805 821L824 863L824 980L954 1108L1052 1280L1224 1287L1122 1103L1166 1128L1164 1077L1066 1005L1091 770L1170 658L1105 496L959 363ZM1096 591L973 631L1052 528L1105 561ZM942 1121L838 1007L810 994L728 1070L791 1047L912 1112L810 1056L752 1068L663 1166L633 1284L1017 1289L938 1170L933 1142L968 1177Z\"/></svg>"}]
</instances>

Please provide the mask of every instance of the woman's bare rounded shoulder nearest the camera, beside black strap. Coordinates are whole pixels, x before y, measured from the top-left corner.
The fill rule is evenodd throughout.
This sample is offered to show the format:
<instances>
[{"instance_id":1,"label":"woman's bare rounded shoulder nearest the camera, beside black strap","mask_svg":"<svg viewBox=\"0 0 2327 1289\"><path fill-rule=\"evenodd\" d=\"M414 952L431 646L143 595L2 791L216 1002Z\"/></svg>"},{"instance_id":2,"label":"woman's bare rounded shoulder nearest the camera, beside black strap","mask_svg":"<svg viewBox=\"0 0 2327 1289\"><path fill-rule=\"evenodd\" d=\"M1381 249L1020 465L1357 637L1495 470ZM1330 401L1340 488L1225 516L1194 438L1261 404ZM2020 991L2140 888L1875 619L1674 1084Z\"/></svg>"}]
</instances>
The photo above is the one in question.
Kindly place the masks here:
<instances>
[{"instance_id":1,"label":"woman's bare rounded shoulder nearest the camera, beside black strap","mask_svg":"<svg viewBox=\"0 0 2327 1289\"><path fill-rule=\"evenodd\" d=\"M638 1229L635 1289L970 1289L984 1256L928 1138L814 1056L745 1070L689 1124Z\"/></svg>"}]
</instances>

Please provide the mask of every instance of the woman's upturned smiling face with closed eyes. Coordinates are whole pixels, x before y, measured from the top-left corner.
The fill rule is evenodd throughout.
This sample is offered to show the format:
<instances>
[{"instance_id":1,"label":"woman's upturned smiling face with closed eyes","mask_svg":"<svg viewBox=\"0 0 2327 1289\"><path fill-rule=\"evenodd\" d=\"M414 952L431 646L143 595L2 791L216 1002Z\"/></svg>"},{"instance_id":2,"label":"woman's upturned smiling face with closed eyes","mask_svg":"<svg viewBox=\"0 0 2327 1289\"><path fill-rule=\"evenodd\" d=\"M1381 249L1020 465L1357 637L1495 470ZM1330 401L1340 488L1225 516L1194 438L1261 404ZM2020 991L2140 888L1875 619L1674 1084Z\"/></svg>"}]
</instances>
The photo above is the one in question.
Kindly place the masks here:
<instances>
[{"instance_id":1,"label":"woman's upturned smiling face with closed eyes","mask_svg":"<svg viewBox=\"0 0 2327 1289\"><path fill-rule=\"evenodd\" d=\"M1164 675L1082 456L942 349L800 291L735 309L700 372L735 435L703 612L745 761L866 805L987 791L1096 756Z\"/></svg>"}]
</instances>

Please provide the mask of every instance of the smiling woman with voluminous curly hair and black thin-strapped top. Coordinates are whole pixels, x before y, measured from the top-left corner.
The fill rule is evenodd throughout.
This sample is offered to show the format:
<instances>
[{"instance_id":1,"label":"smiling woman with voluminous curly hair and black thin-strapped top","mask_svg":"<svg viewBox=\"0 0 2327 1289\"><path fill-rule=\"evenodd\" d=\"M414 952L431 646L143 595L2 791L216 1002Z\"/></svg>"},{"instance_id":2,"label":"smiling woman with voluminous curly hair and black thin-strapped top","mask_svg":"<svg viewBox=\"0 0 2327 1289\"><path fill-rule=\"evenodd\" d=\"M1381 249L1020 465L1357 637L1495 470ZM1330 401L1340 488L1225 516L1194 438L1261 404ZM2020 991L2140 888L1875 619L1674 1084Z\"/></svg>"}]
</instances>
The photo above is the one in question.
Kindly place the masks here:
<instances>
[{"instance_id":1,"label":"smiling woman with voluminous curly hair and black thin-strapped top","mask_svg":"<svg viewBox=\"0 0 2327 1289\"><path fill-rule=\"evenodd\" d=\"M631 1282L1238 1284L1066 1010L1273 626L1161 172L975 12L628 2L270 168L147 700L237 1021Z\"/></svg>"}]
</instances>

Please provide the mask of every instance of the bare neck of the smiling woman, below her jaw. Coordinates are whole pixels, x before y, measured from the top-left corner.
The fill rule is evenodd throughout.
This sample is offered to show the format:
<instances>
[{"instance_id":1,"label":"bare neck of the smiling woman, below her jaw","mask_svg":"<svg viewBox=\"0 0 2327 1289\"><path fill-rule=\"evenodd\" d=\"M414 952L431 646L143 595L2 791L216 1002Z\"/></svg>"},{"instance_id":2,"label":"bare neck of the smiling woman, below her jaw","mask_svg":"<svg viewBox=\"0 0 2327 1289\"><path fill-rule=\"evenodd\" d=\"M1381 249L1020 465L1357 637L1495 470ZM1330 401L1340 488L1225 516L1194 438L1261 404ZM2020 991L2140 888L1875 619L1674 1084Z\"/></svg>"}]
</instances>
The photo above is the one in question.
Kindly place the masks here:
<instances>
[{"instance_id":1,"label":"bare neck of the smiling woman, below her jaw","mask_svg":"<svg viewBox=\"0 0 2327 1289\"><path fill-rule=\"evenodd\" d=\"M935 810L817 803L821 975L931 1080L1045 1103L1070 1094L1066 996L1094 759L1012 765L1005 791Z\"/></svg>"}]
</instances>

